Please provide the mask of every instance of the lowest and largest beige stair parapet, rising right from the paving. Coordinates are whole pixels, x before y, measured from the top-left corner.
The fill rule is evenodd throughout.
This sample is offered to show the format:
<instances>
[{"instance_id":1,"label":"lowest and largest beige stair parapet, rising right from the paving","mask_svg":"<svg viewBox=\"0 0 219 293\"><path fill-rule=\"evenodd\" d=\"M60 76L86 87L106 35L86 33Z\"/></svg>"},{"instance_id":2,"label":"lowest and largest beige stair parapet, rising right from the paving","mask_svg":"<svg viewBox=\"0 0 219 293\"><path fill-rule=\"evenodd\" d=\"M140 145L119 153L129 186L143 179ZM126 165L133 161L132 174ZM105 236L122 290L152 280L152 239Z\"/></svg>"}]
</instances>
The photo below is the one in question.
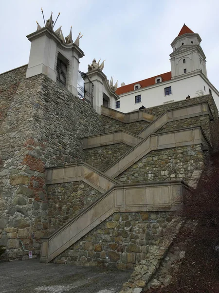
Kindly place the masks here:
<instances>
[{"instance_id":1,"label":"lowest and largest beige stair parapet, rising right from the paving","mask_svg":"<svg viewBox=\"0 0 219 293\"><path fill-rule=\"evenodd\" d=\"M52 235L41 238L40 261L51 261L114 212L179 210L187 188L178 180L114 186Z\"/></svg>"}]
</instances>

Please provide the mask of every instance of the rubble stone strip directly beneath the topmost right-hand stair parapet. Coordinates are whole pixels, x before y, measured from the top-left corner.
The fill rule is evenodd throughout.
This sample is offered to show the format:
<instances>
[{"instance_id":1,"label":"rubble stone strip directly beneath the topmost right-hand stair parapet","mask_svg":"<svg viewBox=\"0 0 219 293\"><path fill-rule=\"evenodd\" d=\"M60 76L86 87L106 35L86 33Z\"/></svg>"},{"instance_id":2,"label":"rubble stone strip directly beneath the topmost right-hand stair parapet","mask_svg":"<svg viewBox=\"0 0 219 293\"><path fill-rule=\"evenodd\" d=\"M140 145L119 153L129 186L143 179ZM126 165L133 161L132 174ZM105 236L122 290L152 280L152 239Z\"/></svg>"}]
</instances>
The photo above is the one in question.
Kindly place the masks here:
<instances>
[{"instance_id":1,"label":"rubble stone strip directly beneath the topmost right-hand stair parapet","mask_svg":"<svg viewBox=\"0 0 219 293\"><path fill-rule=\"evenodd\" d=\"M176 130L176 129L182 129L185 127L201 126L208 141L211 143L210 125L211 125L211 121L210 121L209 115L202 115L202 116L198 116L198 117L168 122L167 124L165 124L162 128L160 128L156 132L165 132L165 131L172 131L172 130Z\"/></svg>"}]
</instances>

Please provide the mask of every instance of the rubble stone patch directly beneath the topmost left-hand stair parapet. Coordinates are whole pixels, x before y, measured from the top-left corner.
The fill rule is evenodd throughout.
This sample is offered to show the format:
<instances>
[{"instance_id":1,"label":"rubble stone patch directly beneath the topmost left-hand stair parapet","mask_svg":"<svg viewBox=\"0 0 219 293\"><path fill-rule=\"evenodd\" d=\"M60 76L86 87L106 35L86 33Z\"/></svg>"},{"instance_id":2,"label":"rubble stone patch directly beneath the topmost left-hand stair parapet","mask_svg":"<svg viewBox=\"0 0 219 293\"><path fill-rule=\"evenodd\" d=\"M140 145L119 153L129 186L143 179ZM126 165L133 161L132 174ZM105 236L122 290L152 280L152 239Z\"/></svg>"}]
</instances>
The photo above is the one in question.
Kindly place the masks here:
<instances>
[{"instance_id":1,"label":"rubble stone patch directly beneath the topmost left-hand stair parapet","mask_svg":"<svg viewBox=\"0 0 219 293\"><path fill-rule=\"evenodd\" d=\"M105 133L118 131L118 130L125 130L133 134L138 134L141 130L143 130L150 124L149 122L144 120L126 124L104 115L102 115L102 120L104 124Z\"/></svg>"}]
</instances>

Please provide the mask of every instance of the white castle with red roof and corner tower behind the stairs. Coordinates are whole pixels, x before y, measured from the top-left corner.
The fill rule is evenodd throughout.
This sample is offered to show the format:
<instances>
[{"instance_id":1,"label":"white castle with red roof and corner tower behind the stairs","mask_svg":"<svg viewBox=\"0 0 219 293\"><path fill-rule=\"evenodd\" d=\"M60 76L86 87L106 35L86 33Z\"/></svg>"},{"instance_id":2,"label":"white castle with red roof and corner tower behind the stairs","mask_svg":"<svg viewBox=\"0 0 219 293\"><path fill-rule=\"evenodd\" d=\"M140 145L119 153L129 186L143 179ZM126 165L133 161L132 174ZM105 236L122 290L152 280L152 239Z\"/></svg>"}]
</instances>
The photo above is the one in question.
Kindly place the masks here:
<instances>
[{"instance_id":1,"label":"white castle with red roof and corner tower behind the stairs","mask_svg":"<svg viewBox=\"0 0 219 293\"><path fill-rule=\"evenodd\" d=\"M206 57L201 48L201 38L183 25L171 43L171 71L135 82L122 83L116 93L119 101L115 109L121 112L138 110L177 102L190 97L211 94L219 108L219 91L207 78Z\"/></svg>"}]
</instances>

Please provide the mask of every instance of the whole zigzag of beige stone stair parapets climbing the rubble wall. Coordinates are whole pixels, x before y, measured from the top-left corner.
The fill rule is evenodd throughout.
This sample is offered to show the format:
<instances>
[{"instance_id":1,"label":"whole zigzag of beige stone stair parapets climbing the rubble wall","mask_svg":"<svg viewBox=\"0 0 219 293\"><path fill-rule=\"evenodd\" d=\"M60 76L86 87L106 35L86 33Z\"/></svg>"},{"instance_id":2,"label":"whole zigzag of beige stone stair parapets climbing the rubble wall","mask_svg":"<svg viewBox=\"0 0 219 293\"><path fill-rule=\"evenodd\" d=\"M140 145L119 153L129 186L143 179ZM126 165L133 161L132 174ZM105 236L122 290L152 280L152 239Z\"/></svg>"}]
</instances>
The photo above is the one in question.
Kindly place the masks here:
<instances>
[{"instance_id":1,"label":"whole zigzag of beige stone stair parapets climbing the rubble wall","mask_svg":"<svg viewBox=\"0 0 219 293\"><path fill-rule=\"evenodd\" d=\"M166 132L157 132L169 122L209 115L212 119L208 103L190 105L166 111L160 117L144 110L133 113L121 113L102 107L102 115L120 123L138 123L146 121L150 124L138 135L125 130L103 133L82 139L83 148L95 149L105 146L124 144L131 147L104 172L86 163L63 167L52 167L46 170L46 184L64 184L83 181L102 195L91 203L67 224L56 230L51 236L42 238L41 262L50 262L92 229L103 223L116 212L148 212L175 211L182 205L183 192L188 186L182 181L119 185L116 178L119 174L133 166L146 154L153 151L201 145L210 147L205 133L199 125ZM102 158L104 160L104 157Z\"/></svg>"}]
</instances>

